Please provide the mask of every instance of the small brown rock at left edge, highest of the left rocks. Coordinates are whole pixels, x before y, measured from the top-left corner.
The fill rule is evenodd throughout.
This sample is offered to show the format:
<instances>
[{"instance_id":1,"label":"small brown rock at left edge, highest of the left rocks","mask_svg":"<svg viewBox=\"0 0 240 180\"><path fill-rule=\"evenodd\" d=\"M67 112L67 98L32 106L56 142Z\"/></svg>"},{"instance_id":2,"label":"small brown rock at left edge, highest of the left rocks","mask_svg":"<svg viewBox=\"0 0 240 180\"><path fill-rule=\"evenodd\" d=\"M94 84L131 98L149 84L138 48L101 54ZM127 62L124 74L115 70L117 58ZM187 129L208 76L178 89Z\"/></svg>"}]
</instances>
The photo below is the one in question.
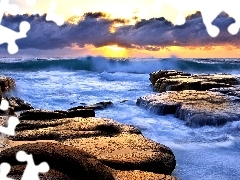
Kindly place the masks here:
<instances>
[{"instance_id":1,"label":"small brown rock at left edge, highest of the left rocks","mask_svg":"<svg viewBox=\"0 0 240 180\"><path fill-rule=\"evenodd\" d=\"M12 78L0 76L0 99L2 98L2 93L10 91L15 87L16 84Z\"/></svg>"}]
</instances>

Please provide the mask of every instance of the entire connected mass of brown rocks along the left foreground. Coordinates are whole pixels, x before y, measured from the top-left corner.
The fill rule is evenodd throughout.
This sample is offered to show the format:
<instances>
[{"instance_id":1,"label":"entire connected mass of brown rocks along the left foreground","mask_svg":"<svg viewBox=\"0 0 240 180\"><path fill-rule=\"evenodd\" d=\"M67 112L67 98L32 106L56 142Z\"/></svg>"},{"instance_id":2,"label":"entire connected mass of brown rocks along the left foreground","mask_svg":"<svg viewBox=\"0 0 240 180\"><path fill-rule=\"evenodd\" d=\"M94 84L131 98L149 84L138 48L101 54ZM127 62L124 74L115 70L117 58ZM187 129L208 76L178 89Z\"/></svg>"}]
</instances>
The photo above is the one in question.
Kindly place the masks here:
<instances>
[{"instance_id":1,"label":"entire connected mass of brown rocks along the left foreground","mask_svg":"<svg viewBox=\"0 0 240 180\"><path fill-rule=\"evenodd\" d=\"M2 116L21 111L16 134L8 137L9 146L0 153L0 162L12 166L9 177L20 179L24 171L25 165L15 158L21 150L33 154L36 164L49 163L50 171L41 179L177 179L171 176L176 160L170 148L145 138L132 125L95 117L95 110L104 110L111 102L66 111L34 109L17 97L5 97L4 92L16 85L11 78L2 79L1 98L11 109Z\"/></svg>"}]
</instances>

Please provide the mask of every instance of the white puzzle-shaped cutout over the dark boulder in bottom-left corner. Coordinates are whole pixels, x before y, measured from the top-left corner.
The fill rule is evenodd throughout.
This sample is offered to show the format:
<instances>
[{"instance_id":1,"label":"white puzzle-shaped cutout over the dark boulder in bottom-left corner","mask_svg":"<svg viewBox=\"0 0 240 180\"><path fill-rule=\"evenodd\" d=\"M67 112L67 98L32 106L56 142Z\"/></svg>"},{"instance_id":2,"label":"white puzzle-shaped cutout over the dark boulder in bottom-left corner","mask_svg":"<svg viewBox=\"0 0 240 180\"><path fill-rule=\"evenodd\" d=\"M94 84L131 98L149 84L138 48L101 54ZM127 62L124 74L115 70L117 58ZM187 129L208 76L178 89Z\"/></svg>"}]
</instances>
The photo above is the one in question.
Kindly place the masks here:
<instances>
[{"instance_id":1,"label":"white puzzle-shaped cutout over the dark boulder in bottom-left corner","mask_svg":"<svg viewBox=\"0 0 240 180\"><path fill-rule=\"evenodd\" d=\"M32 154L27 154L24 151L19 151L16 154L16 159L19 162L27 162L27 166L23 172L21 180L40 180L38 174L46 173L49 171L49 165L47 162L42 162L39 165L35 165ZM10 164L2 163L0 165L0 179L1 180L14 180L7 177L10 172Z\"/></svg>"}]
</instances>

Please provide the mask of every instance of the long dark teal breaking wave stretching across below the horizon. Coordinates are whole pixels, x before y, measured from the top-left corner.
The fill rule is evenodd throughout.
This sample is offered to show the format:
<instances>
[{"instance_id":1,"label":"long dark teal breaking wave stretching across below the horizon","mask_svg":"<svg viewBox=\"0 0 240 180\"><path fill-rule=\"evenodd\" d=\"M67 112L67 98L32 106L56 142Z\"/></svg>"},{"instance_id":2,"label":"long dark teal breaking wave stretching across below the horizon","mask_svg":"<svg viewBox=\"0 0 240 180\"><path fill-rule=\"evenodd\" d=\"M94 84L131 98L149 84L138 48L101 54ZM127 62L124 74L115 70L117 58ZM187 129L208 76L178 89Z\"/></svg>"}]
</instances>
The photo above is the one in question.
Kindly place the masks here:
<instances>
[{"instance_id":1,"label":"long dark teal breaking wave stretching across below the horizon","mask_svg":"<svg viewBox=\"0 0 240 180\"><path fill-rule=\"evenodd\" d=\"M239 74L239 59L140 59L140 58L51 58L51 59L1 59L0 70L86 70L94 72L150 73L158 70L182 70L191 73Z\"/></svg>"}]
</instances>

